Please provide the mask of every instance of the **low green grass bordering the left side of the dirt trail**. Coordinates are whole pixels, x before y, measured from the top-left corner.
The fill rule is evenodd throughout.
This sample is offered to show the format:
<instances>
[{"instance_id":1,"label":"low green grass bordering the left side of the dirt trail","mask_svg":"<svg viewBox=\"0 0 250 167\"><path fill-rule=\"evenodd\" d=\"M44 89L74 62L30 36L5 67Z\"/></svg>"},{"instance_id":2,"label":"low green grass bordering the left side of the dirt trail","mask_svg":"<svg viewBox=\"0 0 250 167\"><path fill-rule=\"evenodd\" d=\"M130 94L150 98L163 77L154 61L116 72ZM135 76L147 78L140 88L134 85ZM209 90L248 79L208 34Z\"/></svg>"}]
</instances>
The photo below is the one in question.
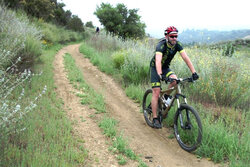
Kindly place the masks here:
<instances>
[{"instance_id":1,"label":"low green grass bordering the left side of the dirt trail","mask_svg":"<svg viewBox=\"0 0 250 167\"><path fill-rule=\"evenodd\" d=\"M0 166L81 166L86 160L83 141L72 137L71 122L63 111L63 102L54 92L52 62L57 51L58 46L40 57L42 63L36 64L34 70L43 70L43 74L33 76L31 82L23 86L25 93L21 101L18 102L16 95L22 94L22 89L10 94L8 100L12 104L18 102L23 106L33 102L37 107L25 115L17 112L22 119L9 135L3 135L1 129ZM45 84L47 91L34 103ZM9 106L16 109L16 105Z\"/></svg>"}]
</instances>

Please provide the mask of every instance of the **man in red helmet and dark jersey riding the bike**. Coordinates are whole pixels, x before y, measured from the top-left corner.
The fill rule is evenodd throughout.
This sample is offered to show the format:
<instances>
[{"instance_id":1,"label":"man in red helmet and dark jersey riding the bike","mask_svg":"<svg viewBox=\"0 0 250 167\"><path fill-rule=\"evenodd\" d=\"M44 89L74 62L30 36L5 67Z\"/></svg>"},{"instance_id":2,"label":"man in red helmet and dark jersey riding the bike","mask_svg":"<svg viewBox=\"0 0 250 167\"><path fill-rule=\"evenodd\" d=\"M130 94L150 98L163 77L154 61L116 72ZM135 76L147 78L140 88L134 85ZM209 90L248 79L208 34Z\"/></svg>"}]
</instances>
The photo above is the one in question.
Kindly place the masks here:
<instances>
[{"instance_id":1,"label":"man in red helmet and dark jersey riding the bike","mask_svg":"<svg viewBox=\"0 0 250 167\"><path fill-rule=\"evenodd\" d=\"M178 30L174 26L170 26L164 31L165 37L162 38L156 46L155 54L150 61L151 69L151 84L153 89L153 95L151 100L151 107L153 112L153 124L155 128L161 128L162 125L157 118L157 106L158 98L160 94L161 80L165 81L168 78L177 79L177 76L169 68L171 60L174 58L177 52L180 53L182 59L187 64L188 68L192 72L193 80L199 78L195 71L195 68L183 49L181 43L177 41ZM169 84L169 88L176 85L176 82ZM169 96L169 95L167 95ZM166 97L167 98L167 97Z\"/></svg>"}]
</instances>

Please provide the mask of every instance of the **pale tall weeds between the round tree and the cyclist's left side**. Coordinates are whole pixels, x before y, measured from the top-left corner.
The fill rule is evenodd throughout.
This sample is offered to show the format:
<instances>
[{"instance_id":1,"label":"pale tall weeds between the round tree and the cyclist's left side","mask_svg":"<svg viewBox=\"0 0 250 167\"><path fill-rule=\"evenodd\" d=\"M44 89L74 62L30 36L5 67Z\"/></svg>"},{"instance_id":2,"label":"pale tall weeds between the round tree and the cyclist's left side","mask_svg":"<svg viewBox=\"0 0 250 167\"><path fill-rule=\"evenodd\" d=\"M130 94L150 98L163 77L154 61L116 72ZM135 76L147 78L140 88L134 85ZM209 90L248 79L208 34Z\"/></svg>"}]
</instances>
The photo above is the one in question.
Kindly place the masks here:
<instances>
[{"instance_id":1,"label":"pale tall weeds between the round tree and the cyclist's left side","mask_svg":"<svg viewBox=\"0 0 250 167\"><path fill-rule=\"evenodd\" d=\"M152 51L149 50L147 41L140 43L135 40L122 40L109 34L94 36L88 41L89 45L96 48L100 53L108 51L108 60L120 70L125 85L130 83L139 84L148 81L149 62Z\"/></svg>"}]
</instances>

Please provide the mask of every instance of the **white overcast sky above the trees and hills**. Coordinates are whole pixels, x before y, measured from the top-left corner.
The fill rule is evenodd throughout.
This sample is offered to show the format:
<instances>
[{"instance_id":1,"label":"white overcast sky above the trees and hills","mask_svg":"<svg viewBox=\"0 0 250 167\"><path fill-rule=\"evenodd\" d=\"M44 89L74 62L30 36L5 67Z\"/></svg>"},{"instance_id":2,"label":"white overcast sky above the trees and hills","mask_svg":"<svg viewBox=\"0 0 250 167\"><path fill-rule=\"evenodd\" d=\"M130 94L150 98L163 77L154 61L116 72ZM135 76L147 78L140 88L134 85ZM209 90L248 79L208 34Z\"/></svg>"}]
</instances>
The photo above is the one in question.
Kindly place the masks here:
<instances>
[{"instance_id":1,"label":"white overcast sky above the trees and hills","mask_svg":"<svg viewBox=\"0 0 250 167\"><path fill-rule=\"evenodd\" d=\"M250 29L249 0L58 0L77 15L83 23L92 21L101 26L93 14L97 5L123 3L128 9L139 9L138 15L146 24L146 33L161 37L170 25L185 29L236 30Z\"/></svg>"}]
</instances>

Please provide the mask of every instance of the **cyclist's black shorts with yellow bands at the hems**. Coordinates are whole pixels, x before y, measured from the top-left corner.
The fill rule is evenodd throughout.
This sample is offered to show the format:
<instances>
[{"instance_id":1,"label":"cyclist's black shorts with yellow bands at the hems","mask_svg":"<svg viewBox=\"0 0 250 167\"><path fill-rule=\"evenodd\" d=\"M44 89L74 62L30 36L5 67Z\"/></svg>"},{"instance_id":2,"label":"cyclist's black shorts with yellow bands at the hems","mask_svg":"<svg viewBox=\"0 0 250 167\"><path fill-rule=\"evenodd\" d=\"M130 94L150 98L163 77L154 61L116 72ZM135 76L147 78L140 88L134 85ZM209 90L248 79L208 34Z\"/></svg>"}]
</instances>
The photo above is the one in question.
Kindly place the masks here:
<instances>
[{"instance_id":1,"label":"cyclist's black shorts with yellow bands at the hems","mask_svg":"<svg viewBox=\"0 0 250 167\"><path fill-rule=\"evenodd\" d=\"M150 67L151 68L151 86L152 88L156 87L161 87L161 81L160 77L157 74L156 68L155 67ZM168 78L170 75L173 75L174 72L170 68L162 69L162 74L166 75Z\"/></svg>"}]
</instances>

